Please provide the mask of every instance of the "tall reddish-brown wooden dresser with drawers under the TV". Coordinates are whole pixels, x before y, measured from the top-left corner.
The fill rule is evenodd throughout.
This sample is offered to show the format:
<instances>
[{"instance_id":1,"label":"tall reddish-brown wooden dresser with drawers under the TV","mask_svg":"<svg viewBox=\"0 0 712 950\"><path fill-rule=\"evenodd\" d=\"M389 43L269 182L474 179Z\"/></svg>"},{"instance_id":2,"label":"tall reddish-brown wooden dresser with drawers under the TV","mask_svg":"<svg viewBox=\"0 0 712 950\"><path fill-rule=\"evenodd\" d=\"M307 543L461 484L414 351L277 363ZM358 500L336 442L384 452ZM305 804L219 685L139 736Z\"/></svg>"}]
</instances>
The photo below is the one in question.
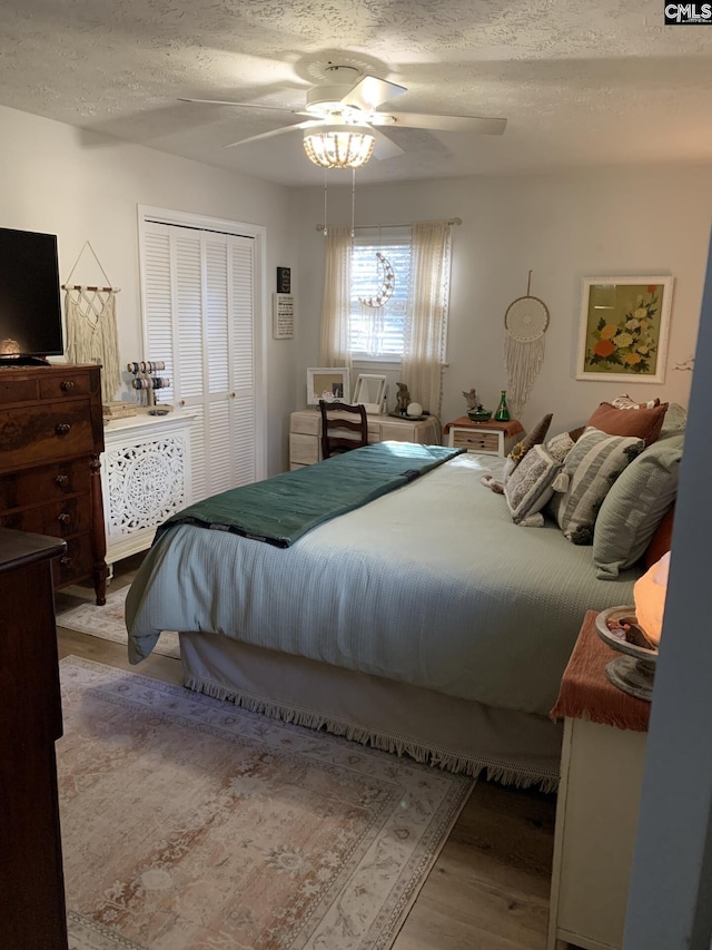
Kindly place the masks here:
<instances>
[{"instance_id":1,"label":"tall reddish-brown wooden dresser with drawers under the TV","mask_svg":"<svg viewBox=\"0 0 712 950\"><path fill-rule=\"evenodd\" d=\"M93 581L106 603L101 369L0 366L0 527L67 541L55 587Z\"/></svg>"}]
</instances>

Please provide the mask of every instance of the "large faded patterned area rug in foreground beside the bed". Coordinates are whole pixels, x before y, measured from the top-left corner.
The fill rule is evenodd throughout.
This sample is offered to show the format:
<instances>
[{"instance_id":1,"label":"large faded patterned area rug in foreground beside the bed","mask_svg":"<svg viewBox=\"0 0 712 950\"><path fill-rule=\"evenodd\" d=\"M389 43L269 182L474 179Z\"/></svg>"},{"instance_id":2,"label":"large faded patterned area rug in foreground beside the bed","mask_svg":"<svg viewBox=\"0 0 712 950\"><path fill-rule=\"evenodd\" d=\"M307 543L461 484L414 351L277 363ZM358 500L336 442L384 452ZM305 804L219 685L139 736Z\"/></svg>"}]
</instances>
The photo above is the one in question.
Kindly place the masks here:
<instances>
[{"instance_id":1,"label":"large faded patterned area rug in foreground beside the bed","mask_svg":"<svg viewBox=\"0 0 712 950\"><path fill-rule=\"evenodd\" d=\"M387 950L474 782L60 664L71 950Z\"/></svg>"}]
</instances>

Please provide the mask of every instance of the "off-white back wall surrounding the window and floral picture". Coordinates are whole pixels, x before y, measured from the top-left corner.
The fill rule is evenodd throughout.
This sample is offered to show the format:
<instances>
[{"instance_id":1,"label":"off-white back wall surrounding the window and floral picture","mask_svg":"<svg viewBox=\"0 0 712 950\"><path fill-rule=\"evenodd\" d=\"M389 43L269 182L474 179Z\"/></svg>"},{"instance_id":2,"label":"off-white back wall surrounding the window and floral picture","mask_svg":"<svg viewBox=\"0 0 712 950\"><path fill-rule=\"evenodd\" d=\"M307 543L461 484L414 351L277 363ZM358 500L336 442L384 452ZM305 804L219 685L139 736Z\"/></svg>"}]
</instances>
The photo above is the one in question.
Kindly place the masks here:
<instances>
[{"instance_id":1,"label":"off-white back wall surrounding the window and floral picture","mask_svg":"<svg viewBox=\"0 0 712 950\"><path fill-rule=\"evenodd\" d=\"M346 186L339 186L339 180ZM532 270L530 292L544 301L551 322L544 363L522 417L531 428L544 413L553 412L554 431L580 424L599 402L622 391L686 405L691 373L672 366L694 352L711 189L712 167L380 186L360 186L357 178L356 224L463 219L454 229L444 421L463 414L462 390L471 386L485 407L496 408L500 390L506 389L504 314L515 297L526 293ZM298 399L304 399L304 370L318 365L314 361L318 359L324 252L315 226L323 221L323 204L322 189L299 193ZM349 173L330 173L328 206L332 224L350 221ZM576 381L581 278L655 274L675 277L664 384Z\"/></svg>"}]
</instances>

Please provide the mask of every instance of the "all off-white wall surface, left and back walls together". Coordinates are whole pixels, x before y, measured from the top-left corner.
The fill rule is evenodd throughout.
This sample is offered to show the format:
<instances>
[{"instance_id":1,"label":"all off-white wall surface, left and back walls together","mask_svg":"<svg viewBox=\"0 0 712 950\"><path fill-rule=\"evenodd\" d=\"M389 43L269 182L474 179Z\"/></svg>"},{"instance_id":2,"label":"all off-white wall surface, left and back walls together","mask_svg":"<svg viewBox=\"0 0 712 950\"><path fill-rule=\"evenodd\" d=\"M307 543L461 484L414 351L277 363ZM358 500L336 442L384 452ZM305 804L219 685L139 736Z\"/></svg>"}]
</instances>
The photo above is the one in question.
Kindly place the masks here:
<instances>
[{"instance_id":1,"label":"all off-white wall surface, left and back walls together","mask_svg":"<svg viewBox=\"0 0 712 950\"><path fill-rule=\"evenodd\" d=\"M323 285L322 188L289 189L0 107L0 226L58 235L60 276L90 241L118 297L121 362L142 358L137 205L259 224L267 229L265 353L267 472L286 467L288 418L305 405L306 368L318 365ZM397 159L393 159L397 160ZM343 184L339 184L343 183ZM528 428L554 412L553 428L578 424L623 388L686 404L691 374L675 362L694 352L712 186L710 167L576 173L532 178L453 178L356 185L357 224L462 217L455 228L449 369L444 421L475 386L494 408L506 388L504 313L526 292L551 313L542 372L523 413ZM330 223L350 221L350 175L330 173ZM273 340L277 265L291 267L295 339ZM75 278L98 280L91 255ZM675 293L663 385L574 379L583 276L673 274ZM369 371L374 371L369 368ZM407 381L406 381L407 382ZM128 392L128 390L126 391Z\"/></svg>"}]
</instances>

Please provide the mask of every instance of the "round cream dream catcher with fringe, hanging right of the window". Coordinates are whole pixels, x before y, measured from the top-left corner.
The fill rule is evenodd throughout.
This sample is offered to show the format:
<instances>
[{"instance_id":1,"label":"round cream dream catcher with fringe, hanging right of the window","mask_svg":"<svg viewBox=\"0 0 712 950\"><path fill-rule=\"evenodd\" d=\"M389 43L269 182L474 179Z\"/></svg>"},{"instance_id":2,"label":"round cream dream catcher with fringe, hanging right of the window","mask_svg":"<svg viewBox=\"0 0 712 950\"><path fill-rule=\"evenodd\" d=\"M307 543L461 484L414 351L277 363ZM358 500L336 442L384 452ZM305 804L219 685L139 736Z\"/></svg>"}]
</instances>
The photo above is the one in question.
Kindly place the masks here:
<instances>
[{"instance_id":1,"label":"round cream dream catcher with fringe, hanging right of the window","mask_svg":"<svg viewBox=\"0 0 712 950\"><path fill-rule=\"evenodd\" d=\"M504 368L507 371L507 402L516 415L528 399L544 359L544 334L548 326L548 308L530 294L512 301L504 315Z\"/></svg>"}]
</instances>

